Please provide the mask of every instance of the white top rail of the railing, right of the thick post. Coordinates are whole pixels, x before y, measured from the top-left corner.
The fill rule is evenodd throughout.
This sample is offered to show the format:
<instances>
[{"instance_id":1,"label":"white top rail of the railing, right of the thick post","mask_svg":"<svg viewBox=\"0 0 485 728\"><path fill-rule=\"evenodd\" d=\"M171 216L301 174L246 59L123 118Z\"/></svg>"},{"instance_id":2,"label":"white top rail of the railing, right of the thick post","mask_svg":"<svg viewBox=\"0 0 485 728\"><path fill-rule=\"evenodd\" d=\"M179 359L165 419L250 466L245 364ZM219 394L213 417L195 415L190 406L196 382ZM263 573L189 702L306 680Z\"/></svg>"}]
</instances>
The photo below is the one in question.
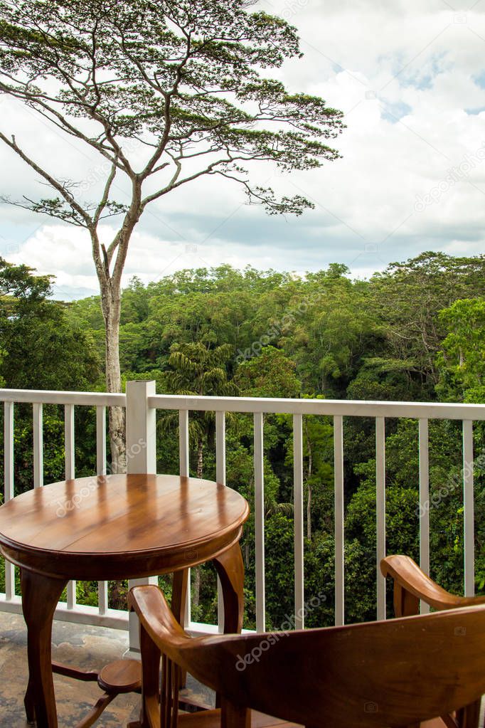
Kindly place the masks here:
<instances>
[{"instance_id":1,"label":"white top rail of the railing, right of the thick post","mask_svg":"<svg viewBox=\"0 0 485 728\"><path fill-rule=\"evenodd\" d=\"M148 406L156 409L212 412L263 412L272 414L344 415L350 417L485 420L485 404L153 395L148 397Z\"/></svg>"}]
</instances>

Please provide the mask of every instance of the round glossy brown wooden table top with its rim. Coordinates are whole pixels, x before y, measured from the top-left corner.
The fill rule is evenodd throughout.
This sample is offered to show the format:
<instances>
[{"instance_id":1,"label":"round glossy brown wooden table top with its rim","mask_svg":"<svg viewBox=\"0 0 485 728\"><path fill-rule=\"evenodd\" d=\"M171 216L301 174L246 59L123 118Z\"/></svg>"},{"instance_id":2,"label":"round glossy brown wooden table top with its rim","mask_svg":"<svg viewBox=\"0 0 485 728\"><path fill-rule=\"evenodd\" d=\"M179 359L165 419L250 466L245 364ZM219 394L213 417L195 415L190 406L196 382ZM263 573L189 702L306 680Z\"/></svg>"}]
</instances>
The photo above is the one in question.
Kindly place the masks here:
<instances>
[{"instance_id":1,"label":"round glossy brown wooden table top with its rim","mask_svg":"<svg viewBox=\"0 0 485 728\"><path fill-rule=\"evenodd\" d=\"M239 493L210 480L74 478L1 506L0 547L13 563L54 577L136 578L213 558L239 539L248 515Z\"/></svg>"}]
</instances>

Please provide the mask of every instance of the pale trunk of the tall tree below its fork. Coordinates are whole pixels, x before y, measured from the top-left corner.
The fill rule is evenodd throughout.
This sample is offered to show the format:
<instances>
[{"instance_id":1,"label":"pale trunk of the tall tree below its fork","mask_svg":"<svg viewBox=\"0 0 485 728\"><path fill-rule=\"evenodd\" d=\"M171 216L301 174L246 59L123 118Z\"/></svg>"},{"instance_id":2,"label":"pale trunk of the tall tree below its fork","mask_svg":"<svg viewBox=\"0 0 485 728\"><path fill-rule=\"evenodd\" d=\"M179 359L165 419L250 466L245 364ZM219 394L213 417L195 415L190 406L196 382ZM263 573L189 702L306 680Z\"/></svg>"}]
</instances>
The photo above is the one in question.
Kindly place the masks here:
<instances>
[{"instance_id":1,"label":"pale trunk of the tall tree below its fork","mask_svg":"<svg viewBox=\"0 0 485 728\"><path fill-rule=\"evenodd\" d=\"M121 371L119 365L121 291L107 290L102 293L101 300L105 319L106 389L108 392L121 392ZM124 408L110 407L108 409L108 422L111 447L111 472L126 472L126 413Z\"/></svg>"}]
</instances>

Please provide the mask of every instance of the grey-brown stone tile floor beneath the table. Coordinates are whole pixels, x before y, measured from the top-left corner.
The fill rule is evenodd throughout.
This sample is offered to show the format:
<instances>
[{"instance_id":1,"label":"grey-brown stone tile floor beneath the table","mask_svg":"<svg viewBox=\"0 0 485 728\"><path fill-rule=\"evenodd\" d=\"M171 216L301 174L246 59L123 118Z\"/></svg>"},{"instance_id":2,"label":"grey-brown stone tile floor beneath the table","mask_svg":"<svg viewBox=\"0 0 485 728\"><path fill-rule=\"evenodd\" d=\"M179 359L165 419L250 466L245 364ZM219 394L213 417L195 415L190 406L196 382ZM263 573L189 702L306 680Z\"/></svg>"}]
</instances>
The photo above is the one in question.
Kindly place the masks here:
<instances>
[{"instance_id":1,"label":"grey-brown stone tile floor beneath the table","mask_svg":"<svg viewBox=\"0 0 485 728\"><path fill-rule=\"evenodd\" d=\"M119 660L128 648L127 633L121 630L54 622L52 659L82 669L99 670L111 660ZM23 695L27 685L26 630L23 617L0 612L0 728L26 728ZM96 683L55 676L55 695L60 728L70 728L100 697ZM204 689L191 681L188 695L196 697ZM210 697L204 695L210 700ZM120 728L137 720L140 696L119 695L108 705L95 724L97 728Z\"/></svg>"}]
</instances>

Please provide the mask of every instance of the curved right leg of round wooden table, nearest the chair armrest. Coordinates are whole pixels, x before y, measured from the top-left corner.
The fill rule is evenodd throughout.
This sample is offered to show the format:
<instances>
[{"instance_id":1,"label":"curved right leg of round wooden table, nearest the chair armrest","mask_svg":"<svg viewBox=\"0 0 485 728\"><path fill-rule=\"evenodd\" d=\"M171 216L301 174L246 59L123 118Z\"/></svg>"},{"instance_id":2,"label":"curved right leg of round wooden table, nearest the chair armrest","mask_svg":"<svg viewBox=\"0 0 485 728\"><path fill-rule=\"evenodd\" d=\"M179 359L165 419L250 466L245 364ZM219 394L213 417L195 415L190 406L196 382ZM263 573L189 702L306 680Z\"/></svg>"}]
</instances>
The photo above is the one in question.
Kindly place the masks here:
<instances>
[{"instance_id":1,"label":"curved right leg of round wooden table, nearest the chair armrest","mask_svg":"<svg viewBox=\"0 0 485 728\"><path fill-rule=\"evenodd\" d=\"M241 633L244 616L244 563L239 543L214 559L224 596L224 633Z\"/></svg>"}]
</instances>

